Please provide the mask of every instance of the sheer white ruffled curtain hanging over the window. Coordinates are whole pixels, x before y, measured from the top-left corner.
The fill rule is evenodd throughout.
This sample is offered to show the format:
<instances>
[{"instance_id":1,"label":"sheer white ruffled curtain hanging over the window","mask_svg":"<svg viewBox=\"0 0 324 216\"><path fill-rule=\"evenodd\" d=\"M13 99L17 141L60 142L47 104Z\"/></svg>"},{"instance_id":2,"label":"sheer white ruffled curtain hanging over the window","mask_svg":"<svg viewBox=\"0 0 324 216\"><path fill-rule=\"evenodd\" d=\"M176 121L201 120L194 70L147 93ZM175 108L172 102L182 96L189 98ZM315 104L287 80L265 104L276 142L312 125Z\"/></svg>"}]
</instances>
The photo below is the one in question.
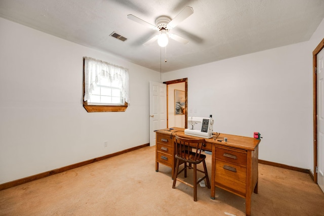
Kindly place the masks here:
<instances>
[{"instance_id":1,"label":"sheer white ruffled curtain hanging over the window","mask_svg":"<svg viewBox=\"0 0 324 216\"><path fill-rule=\"evenodd\" d=\"M125 101L130 103L129 92L129 74L128 69L112 65L108 62L96 60L90 57L85 59L85 98L84 101L90 99L92 91L96 88L99 76L105 76L111 82L118 81L121 94Z\"/></svg>"}]
</instances>

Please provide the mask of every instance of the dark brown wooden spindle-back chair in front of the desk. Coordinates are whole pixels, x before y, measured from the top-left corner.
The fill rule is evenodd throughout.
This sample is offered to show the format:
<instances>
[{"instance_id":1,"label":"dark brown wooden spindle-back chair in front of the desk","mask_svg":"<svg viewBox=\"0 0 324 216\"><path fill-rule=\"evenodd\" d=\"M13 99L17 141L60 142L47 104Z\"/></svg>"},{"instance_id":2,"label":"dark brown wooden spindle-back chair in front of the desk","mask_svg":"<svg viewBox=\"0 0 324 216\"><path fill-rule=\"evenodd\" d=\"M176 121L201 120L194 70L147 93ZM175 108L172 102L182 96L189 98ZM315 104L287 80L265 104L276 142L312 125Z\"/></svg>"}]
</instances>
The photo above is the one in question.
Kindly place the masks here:
<instances>
[{"instance_id":1,"label":"dark brown wooden spindle-back chair in front of the desk","mask_svg":"<svg viewBox=\"0 0 324 216\"><path fill-rule=\"evenodd\" d=\"M208 178L207 166L206 166L206 155L201 154L201 148L205 145L205 139L187 139L175 136L176 140L176 155L177 159L176 169L174 173L173 186L176 188L176 182L182 182L183 184L193 188L193 200L197 201L197 184L206 179L207 187L211 188L211 184ZM197 164L203 162L204 171L197 169ZM179 165L184 163L184 168L179 170ZM189 166L187 165L189 163ZM191 166L192 164L192 166ZM178 178L178 175L184 171L184 177L187 177L187 168L193 169L193 185ZM203 178L197 181L197 171L205 174Z\"/></svg>"}]
</instances>

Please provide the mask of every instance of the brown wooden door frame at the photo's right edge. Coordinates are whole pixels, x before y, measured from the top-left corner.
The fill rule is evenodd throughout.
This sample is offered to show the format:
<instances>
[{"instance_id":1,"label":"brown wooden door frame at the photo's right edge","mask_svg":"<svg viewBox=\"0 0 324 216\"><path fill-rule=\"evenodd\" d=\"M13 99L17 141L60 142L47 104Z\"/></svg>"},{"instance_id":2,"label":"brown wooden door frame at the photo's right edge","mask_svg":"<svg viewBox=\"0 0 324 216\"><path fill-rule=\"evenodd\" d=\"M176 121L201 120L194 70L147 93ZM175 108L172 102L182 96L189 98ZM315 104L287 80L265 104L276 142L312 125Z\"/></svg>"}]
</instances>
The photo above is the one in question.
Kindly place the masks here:
<instances>
[{"instance_id":1,"label":"brown wooden door frame at the photo's right edge","mask_svg":"<svg viewBox=\"0 0 324 216\"><path fill-rule=\"evenodd\" d=\"M314 183L317 184L317 73L316 73L316 67L317 67L317 54L324 48L324 38L320 41L320 43L317 45L315 50L313 51L313 148L314 148Z\"/></svg>"}]
</instances>

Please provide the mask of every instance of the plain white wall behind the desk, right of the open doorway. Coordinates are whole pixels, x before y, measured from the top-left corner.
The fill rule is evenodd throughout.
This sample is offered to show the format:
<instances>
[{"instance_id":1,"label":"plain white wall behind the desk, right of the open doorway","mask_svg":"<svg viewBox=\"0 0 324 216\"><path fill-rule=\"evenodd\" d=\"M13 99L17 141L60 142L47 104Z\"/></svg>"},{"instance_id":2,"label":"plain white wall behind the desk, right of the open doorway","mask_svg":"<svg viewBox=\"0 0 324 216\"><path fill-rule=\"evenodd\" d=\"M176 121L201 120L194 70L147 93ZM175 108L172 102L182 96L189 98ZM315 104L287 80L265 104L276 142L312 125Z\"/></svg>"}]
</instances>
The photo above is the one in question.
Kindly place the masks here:
<instances>
[{"instance_id":1,"label":"plain white wall behind the desk, right of the open doorway","mask_svg":"<svg viewBox=\"0 0 324 216\"><path fill-rule=\"evenodd\" d=\"M163 80L187 77L188 115L212 114L214 131L261 133L259 159L312 170L312 51L323 22L310 41L164 73Z\"/></svg>"}]
</instances>

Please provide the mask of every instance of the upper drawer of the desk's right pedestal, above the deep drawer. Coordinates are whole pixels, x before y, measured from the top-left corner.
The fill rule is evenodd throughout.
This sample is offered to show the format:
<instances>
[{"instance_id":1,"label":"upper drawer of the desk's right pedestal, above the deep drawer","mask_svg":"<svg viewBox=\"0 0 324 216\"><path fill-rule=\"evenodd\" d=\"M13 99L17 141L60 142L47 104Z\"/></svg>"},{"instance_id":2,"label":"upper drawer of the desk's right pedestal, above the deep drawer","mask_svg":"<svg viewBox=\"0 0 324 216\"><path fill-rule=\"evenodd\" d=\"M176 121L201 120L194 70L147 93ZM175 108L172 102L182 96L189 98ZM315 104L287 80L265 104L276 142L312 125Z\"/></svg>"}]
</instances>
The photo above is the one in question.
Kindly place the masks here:
<instances>
[{"instance_id":1,"label":"upper drawer of the desk's right pedestal, above the deep drawer","mask_svg":"<svg viewBox=\"0 0 324 216\"><path fill-rule=\"evenodd\" d=\"M216 147L216 159L240 166L247 166L247 152L244 150L230 147Z\"/></svg>"}]
</instances>

